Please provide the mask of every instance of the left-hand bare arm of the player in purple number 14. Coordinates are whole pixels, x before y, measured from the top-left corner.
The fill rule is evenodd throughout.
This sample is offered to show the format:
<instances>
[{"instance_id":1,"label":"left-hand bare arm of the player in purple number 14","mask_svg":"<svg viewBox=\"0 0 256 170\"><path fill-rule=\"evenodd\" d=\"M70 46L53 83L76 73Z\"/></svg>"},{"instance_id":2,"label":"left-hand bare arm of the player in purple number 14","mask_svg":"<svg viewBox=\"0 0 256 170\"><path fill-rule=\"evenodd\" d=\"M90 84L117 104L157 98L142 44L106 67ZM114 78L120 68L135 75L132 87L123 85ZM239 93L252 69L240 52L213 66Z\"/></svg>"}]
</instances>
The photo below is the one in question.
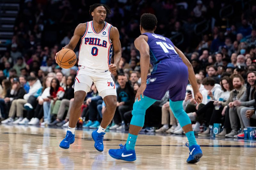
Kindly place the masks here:
<instances>
[{"instance_id":1,"label":"left-hand bare arm of the player in purple number 14","mask_svg":"<svg viewBox=\"0 0 256 170\"><path fill-rule=\"evenodd\" d=\"M141 85L140 88L137 90L135 100L138 99L140 101L140 95L143 98L143 92L146 89L146 81L148 76L148 69L149 69L149 46L148 46L148 36L140 35L135 41L135 47L140 51L140 72L141 72Z\"/></svg>"}]
</instances>

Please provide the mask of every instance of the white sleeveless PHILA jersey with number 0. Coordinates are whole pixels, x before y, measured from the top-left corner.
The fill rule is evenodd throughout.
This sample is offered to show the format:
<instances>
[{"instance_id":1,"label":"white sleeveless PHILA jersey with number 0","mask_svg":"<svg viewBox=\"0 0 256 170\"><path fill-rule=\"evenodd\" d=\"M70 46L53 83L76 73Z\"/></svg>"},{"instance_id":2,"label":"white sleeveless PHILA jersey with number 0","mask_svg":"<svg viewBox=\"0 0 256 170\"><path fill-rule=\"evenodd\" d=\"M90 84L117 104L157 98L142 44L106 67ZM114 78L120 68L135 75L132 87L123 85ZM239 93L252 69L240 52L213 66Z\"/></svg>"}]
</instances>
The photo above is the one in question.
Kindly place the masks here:
<instances>
[{"instance_id":1,"label":"white sleeveless PHILA jersey with number 0","mask_svg":"<svg viewBox=\"0 0 256 170\"><path fill-rule=\"evenodd\" d=\"M100 33L96 33L92 21L87 22L85 33L81 37L78 65L90 69L108 70L113 54L113 45L109 37L111 27L112 25L105 21L104 28Z\"/></svg>"}]
</instances>

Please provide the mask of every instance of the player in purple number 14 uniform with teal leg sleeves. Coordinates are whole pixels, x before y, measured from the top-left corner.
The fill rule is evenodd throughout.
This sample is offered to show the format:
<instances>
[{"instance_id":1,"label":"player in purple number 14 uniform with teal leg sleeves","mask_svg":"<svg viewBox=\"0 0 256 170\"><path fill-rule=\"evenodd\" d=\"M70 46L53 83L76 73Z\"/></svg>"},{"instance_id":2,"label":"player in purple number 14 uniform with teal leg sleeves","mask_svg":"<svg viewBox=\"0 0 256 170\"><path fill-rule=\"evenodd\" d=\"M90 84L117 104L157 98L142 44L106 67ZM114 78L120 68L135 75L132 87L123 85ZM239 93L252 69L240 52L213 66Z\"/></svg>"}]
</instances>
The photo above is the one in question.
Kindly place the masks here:
<instances>
[{"instance_id":1,"label":"player in purple number 14 uniform with teal leg sleeves","mask_svg":"<svg viewBox=\"0 0 256 170\"><path fill-rule=\"evenodd\" d=\"M109 155L115 159L126 161L136 160L135 143L143 127L145 112L156 100L161 100L169 90L170 107L174 116L188 137L188 163L196 163L203 152L196 143L191 121L183 110L188 80L192 85L197 103L202 102L202 95L196 84L192 65L185 55L176 48L170 39L155 34L157 19L150 13L144 13L140 18L140 35L135 41L135 47L140 51L141 85L133 104L132 120L126 144L120 149L110 149ZM149 62L153 66L151 75L147 77Z\"/></svg>"}]
</instances>

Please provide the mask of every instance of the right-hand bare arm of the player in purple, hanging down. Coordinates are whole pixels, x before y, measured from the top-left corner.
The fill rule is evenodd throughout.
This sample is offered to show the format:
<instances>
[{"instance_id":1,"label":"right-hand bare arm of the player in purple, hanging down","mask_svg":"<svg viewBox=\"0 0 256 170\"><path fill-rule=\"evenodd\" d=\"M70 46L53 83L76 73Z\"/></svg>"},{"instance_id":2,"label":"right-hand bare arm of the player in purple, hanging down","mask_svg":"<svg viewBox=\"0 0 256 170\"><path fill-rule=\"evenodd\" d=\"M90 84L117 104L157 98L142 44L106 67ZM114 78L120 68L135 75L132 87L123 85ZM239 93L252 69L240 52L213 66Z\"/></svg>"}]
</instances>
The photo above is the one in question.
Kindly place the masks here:
<instances>
[{"instance_id":1,"label":"right-hand bare arm of the player in purple, hanging down","mask_svg":"<svg viewBox=\"0 0 256 170\"><path fill-rule=\"evenodd\" d=\"M187 59L187 57L180 51L179 48L174 46L174 49L178 53L180 58L182 59L183 63L185 63L186 66L188 67L188 80L193 88L195 100L197 103L201 103L203 100L203 96L199 92L193 67L192 67L191 63L189 62L189 60Z\"/></svg>"}]
</instances>

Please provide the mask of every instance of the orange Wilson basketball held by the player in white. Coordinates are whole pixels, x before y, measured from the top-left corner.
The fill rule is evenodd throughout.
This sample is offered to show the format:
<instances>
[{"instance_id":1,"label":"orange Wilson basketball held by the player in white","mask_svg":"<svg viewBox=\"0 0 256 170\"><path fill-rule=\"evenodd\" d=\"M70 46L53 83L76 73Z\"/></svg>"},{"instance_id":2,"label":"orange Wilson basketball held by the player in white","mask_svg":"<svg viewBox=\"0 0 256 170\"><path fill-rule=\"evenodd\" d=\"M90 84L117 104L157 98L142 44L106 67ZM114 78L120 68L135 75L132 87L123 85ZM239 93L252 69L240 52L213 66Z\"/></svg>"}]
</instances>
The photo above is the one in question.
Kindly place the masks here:
<instances>
[{"instance_id":1,"label":"orange Wilson basketball held by the player in white","mask_svg":"<svg viewBox=\"0 0 256 170\"><path fill-rule=\"evenodd\" d=\"M73 50L64 48L56 56L57 64L63 69L69 69L76 64L76 54Z\"/></svg>"}]
</instances>

